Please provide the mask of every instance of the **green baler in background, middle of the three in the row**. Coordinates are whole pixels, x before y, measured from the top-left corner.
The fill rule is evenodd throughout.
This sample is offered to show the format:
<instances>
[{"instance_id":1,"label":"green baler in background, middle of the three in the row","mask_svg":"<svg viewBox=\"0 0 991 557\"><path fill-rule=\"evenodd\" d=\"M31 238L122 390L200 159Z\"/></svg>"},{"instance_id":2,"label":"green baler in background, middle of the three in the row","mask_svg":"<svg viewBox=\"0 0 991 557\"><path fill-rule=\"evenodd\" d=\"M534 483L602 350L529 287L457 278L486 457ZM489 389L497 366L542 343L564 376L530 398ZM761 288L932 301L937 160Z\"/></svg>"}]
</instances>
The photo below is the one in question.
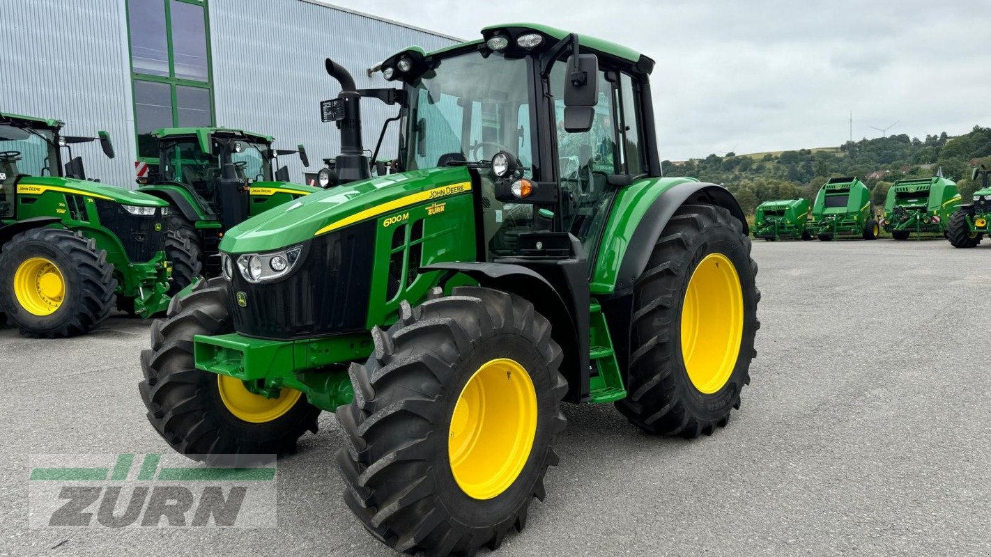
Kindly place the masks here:
<instances>
[{"instance_id":1,"label":"green baler in background, middle of the three in the row","mask_svg":"<svg viewBox=\"0 0 991 557\"><path fill-rule=\"evenodd\" d=\"M881 227L870 190L856 178L829 178L816 196L809 230L823 241L841 236L877 239Z\"/></svg>"}]
</instances>

